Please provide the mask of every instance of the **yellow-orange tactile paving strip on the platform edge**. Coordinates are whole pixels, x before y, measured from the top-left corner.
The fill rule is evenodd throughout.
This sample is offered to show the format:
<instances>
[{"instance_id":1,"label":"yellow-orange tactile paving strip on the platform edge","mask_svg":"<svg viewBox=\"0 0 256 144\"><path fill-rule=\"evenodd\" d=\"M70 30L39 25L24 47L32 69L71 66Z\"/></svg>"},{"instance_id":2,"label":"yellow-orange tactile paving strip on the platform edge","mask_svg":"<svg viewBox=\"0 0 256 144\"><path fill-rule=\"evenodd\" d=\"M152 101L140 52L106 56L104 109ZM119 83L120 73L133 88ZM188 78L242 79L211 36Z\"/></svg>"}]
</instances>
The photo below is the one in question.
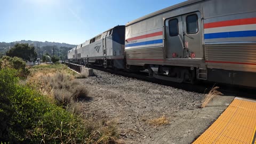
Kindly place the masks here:
<instances>
[{"instance_id":1,"label":"yellow-orange tactile paving strip on the platform edge","mask_svg":"<svg viewBox=\"0 0 256 144\"><path fill-rule=\"evenodd\" d=\"M194 143L256 144L256 101L235 99Z\"/></svg>"}]
</instances>

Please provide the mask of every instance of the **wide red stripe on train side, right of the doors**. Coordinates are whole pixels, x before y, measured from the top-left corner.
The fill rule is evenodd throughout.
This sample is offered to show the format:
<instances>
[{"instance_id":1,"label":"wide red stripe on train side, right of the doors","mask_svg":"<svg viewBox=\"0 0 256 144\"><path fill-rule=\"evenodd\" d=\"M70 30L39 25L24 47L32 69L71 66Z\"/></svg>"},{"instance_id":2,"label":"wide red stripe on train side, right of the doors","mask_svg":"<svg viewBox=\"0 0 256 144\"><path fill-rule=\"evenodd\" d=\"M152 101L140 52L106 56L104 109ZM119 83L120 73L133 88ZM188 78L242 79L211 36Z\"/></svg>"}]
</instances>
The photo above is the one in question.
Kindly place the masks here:
<instances>
[{"instance_id":1,"label":"wide red stripe on train side, right of the doors","mask_svg":"<svg viewBox=\"0 0 256 144\"><path fill-rule=\"evenodd\" d=\"M250 24L256 24L256 18L205 23L204 28L217 28L217 27L239 26L239 25L250 25Z\"/></svg>"}]
</instances>

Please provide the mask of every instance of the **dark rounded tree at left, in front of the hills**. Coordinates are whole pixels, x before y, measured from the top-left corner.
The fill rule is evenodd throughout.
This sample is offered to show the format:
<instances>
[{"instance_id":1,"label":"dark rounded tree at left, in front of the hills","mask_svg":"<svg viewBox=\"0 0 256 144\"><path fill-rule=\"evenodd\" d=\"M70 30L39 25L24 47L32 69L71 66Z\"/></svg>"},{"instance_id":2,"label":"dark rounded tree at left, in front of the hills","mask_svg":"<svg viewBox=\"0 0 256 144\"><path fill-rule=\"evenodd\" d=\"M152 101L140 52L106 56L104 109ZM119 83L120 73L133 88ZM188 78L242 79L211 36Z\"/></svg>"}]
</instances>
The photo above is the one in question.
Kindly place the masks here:
<instances>
[{"instance_id":1,"label":"dark rounded tree at left, in front of the hills","mask_svg":"<svg viewBox=\"0 0 256 144\"><path fill-rule=\"evenodd\" d=\"M9 51L6 52L9 57L19 57L24 61L36 61L37 54L34 46L28 44L15 44Z\"/></svg>"}]
</instances>

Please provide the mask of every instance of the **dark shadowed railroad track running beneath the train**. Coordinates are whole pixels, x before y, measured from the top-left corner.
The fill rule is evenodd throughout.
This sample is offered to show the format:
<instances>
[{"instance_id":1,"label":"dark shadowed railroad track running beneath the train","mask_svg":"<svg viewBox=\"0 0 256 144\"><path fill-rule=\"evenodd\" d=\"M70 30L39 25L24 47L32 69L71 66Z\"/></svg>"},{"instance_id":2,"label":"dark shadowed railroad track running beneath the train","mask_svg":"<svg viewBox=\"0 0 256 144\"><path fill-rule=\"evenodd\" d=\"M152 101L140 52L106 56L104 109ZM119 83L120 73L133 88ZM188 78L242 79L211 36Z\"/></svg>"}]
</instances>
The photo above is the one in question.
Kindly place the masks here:
<instances>
[{"instance_id":1,"label":"dark shadowed railroad track running beneath the train","mask_svg":"<svg viewBox=\"0 0 256 144\"><path fill-rule=\"evenodd\" d=\"M84 67L82 65L77 65L77 66ZM172 86L176 89L182 89L190 92L208 93L213 86L219 86L220 88L218 90L224 95L255 99L255 94L256 94L256 90L251 87L219 84L219 83L213 83L213 82L198 82L196 84L176 83L176 82L164 81L162 79L157 79L157 78L148 76L148 73L146 71L139 71L137 73L130 73L130 72L128 73L126 71L115 71L114 69L106 69L100 66L90 66L90 68L105 71L111 74L136 78L136 79L151 82L151 83ZM77 71L77 69L75 70Z\"/></svg>"}]
</instances>

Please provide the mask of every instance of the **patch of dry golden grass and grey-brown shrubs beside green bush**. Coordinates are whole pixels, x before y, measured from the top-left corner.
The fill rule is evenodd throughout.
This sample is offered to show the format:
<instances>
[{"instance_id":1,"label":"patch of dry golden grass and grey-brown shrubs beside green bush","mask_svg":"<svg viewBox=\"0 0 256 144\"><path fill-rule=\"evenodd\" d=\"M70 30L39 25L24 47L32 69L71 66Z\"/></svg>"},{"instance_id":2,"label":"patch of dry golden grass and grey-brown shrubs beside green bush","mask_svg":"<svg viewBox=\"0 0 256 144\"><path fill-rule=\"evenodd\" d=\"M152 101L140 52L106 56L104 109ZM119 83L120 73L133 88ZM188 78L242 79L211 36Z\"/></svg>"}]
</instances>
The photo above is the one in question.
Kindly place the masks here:
<instances>
[{"instance_id":1,"label":"patch of dry golden grass and grey-brown shrubs beside green bush","mask_svg":"<svg viewBox=\"0 0 256 144\"><path fill-rule=\"evenodd\" d=\"M29 85L47 95L57 105L66 108L78 98L86 99L89 92L85 85L73 81L75 74L63 65L40 65L33 68L27 79Z\"/></svg>"}]
</instances>

